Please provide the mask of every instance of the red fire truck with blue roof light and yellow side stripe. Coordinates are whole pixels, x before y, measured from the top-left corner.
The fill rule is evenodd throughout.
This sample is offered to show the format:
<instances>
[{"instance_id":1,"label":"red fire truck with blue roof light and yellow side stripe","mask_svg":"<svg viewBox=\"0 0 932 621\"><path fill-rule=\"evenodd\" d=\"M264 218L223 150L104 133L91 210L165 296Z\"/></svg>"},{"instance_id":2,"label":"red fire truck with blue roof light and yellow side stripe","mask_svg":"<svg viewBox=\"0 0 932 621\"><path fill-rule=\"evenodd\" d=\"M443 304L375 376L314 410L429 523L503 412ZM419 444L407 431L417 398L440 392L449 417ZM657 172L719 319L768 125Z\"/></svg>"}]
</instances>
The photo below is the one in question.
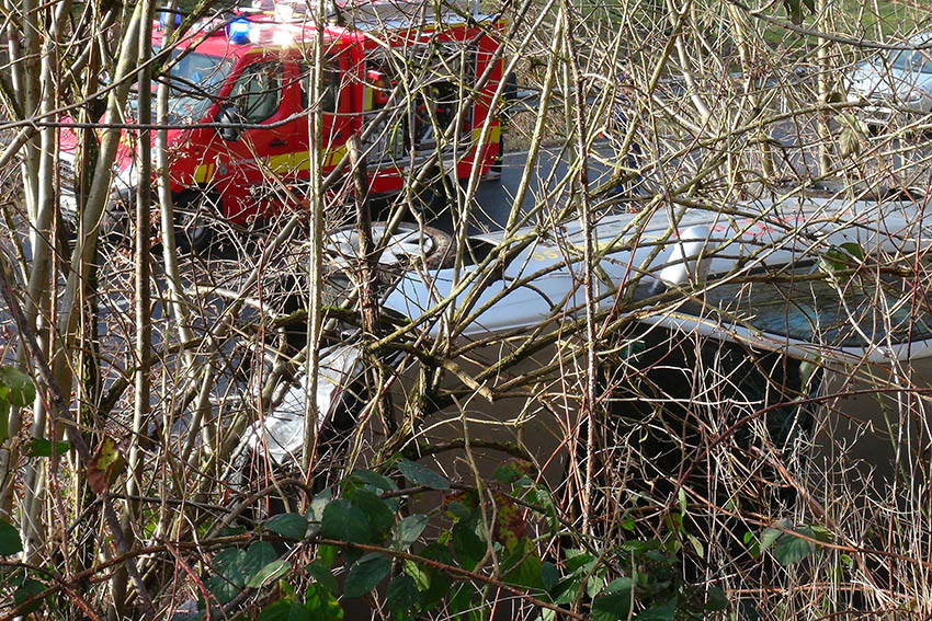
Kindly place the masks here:
<instances>
[{"instance_id":1,"label":"red fire truck with blue roof light and yellow side stripe","mask_svg":"<svg viewBox=\"0 0 932 621\"><path fill-rule=\"evenodd\" d=\"M308 16L283 15L283 5L203 24L170 50L163 50L162 28L155 30L154 49L168 56L180 245L208 243L205 206L246 225L300 200L311 173L315 111L322 115L323 174L359 136L370 195L398 193L414 174L425 179L425 164L457 179L474 169L490 174L501 142L490 110L502 70L501 22L476 12L435 15L431 5L396 0L334 7L322 33ZM310 101L318 34L322 96ZM130 142L117 156L109 219L125 212L138 183Z\"/></svg>"}]
</instances>

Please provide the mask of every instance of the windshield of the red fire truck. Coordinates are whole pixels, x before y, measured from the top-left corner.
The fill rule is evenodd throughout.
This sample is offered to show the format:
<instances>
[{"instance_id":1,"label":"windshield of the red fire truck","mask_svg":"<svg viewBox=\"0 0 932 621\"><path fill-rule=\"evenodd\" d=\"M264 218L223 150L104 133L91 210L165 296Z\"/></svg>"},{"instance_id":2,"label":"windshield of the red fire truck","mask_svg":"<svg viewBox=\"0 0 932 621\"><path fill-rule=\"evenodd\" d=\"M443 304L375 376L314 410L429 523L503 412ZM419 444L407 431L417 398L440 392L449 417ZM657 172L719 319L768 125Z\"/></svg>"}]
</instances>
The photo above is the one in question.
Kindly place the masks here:
<instances>
[{"instance_id":1,"label":"windshield of the red fire truck","mask_svg":"<svg viewBox=\"0 0 932 621\"><path fill-rule=\"evenodd\" d=\"M154 51L158 53L159 48ZM175 49L171 53L171 62L168 122L201 120L232 70L232 59Z\"/></svg>"}]
</instances>

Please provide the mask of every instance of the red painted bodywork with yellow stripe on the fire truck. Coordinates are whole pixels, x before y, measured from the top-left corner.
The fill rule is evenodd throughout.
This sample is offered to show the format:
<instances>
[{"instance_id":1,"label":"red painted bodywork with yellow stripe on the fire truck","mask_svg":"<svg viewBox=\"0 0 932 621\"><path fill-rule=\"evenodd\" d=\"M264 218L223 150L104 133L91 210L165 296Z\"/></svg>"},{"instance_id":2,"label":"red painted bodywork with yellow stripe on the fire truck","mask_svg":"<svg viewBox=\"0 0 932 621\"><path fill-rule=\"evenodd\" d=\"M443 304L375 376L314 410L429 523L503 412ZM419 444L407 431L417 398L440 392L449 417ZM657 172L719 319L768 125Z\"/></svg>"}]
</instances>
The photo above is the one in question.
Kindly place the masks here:
<instances>
[{"instance_id":1,"label":"red painted bodywork with yellow stripe on the fire truck","mask_svg":"<svg viewBox=\"0 0 932 621\"><path fill-rule=\"evenodd\" d=\"M221 84L215 84L215 95L211 99L209 107L200 116L187 119L191 127L168 131L171 189L177 196L190 189L215 194L220 199L223 216L235 223L247 223L274 215L287 204L287 199L283 198L286 193L282 189L297 187L299 191L310 176L309 113L303 101L306 95L303 95L302 84L308 66L305 56L318 32L312 25L274 23L265 14L253 15L250 20L249 43L230 43L221 30L212 33L212 30L219 30L213 26L186 36L172 51L179 58L202 55L221 61L229 68L229 72L223 78ZM450 166L455 166L459 179L468 177L474 166L479 168L480 175L488 173L499 154L500 145L500 125L497 117L490 116L490 103L501 78L502 62L500 56L497 56L499 44L489 34L499 26L486 22L365 32L328 25L322 37L330 72L325 76L330 77L331 83L336 83L339 78L340 87L337 90L336 114L328 111L321 115L322 173L326 175L340 163L346 156L346 141L373 120L380 110L379 102L386 100L385 90L372 83L374 55L385 49L386 43L397 56L395 50L405 54L406 50L428 49L431 47L425 45L428 41L433 47L446 45L468 49L474 79L484 76L489 65L495 64L488 80L474 95L468 113L462 114L465 120L461 123L459 135L465 146L447 153L448 161L444 157ZM288 38L291 43L282 43L282 37ZM162 33L156 31L154 48L161 49L162 44ZM243 125L236 139L225 138L218 127L203 126L218 123L234 89L248 82L248 76L252 74L248 72L261 72L260 67L271 67L271 72L281 70L276 73L281 76L277 108L258 123ZM437 83L444 84L442 81ZM447 105L447 108L452 106ZM412 116L410 110L409 106L407 114L401 114L400 119L395 118L393 122L404 126L405 117ZM433 111L434 115L437 115L437 110ZM379 134L385 143L390 142L386 138L390 134L389 129ZM405 126L405 134L410 134L410 127ZM480 135L485 136L484 145L473 143ZM378 156L376 143L363 146L368 148L370 193L386 194L402 189L405 179L410 174L410 164L417 163L419 157L434 152L436 139L433 146L422 151L417 146L412 149L410 145L405 146L396 140L394 146L404 152L395 153L394 159L383 157L379 160L374 157ZM62 148L68 150L65 145ZM125 140L117 153L117 168L125 170L133 166L133 159L132 141Z\"/></svg>"}]
</instances>

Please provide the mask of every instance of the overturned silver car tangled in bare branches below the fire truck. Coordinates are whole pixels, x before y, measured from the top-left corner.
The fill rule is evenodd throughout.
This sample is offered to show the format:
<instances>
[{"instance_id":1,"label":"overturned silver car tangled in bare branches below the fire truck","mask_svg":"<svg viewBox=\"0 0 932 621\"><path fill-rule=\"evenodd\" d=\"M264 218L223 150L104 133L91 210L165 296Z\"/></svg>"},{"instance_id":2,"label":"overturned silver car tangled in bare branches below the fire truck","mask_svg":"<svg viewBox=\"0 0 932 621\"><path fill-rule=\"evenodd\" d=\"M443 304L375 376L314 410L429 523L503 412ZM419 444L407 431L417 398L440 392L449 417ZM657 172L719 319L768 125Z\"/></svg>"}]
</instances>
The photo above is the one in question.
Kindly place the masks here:
<instances>
[{"instance_id":1,"label":"overturned silver car tangled in bare branches below the fire truck","mask_svg":"<svg viewBox=\"0 0 932 621\"><path fill-rule=\"evenodd\" d=\"M341 230L339 336L315 381L298 360L242 453L297 463L316 412L332 448L318 465L343 471L404 455L474 480L520 458L586 510L681 487L772 506L807 456L916 392L932 355L928 225L911 198L796 195L459 242L378 223L371 287ZM379 314L363 330L365 290ZM863 445L874 463L883 439Z\"/></svg>"}]
</instances>

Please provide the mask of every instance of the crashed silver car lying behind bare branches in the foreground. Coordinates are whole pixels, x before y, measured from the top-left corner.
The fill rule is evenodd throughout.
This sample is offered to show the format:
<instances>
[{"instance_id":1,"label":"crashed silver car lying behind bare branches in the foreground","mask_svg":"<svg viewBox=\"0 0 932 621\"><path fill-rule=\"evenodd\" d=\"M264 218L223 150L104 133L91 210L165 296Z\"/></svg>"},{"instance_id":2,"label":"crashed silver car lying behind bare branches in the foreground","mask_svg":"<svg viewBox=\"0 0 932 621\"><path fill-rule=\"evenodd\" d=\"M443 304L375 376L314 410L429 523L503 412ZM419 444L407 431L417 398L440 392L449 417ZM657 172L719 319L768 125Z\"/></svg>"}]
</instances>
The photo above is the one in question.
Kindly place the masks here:
<instances>
[{"instance_id":1,"label":"crashed silver car lying behind bare branches in the foreground","mask_svg":"<svg viewBox=\"0 0 932 621\"><path fill-rule=\"evenodd\" d=\"M670 429L687 421L720 430L760 418L760 428L751 429L757 439L741 442L777 447L778 455L789 455L802 436L818 436L809 398L818 401L820 384L831 386L832 377L848 377L836 370L898 368L932 356L932 318L916 298L909 258L924 255L929 225L912 202L799 197L603 218L591 238L599 252L589 308L600 334L599 392L618 425L618 437L605 446L633 447L634 434L645 456L640 463L662 476L675 459L673 465L655 459L656 446L666 447ZM384 234L383 228L375 237ZM424 369L443 375L407 444L396 449L413 455L423 446L445 447L431 459L459 478L475 465L491 472L512 451L558 484L572 459L568 438L580 433L577 413L591 377L581 329L584 235L575 222L474 235L470 264L458 268L437 256L454 245L436 237L408 228L383 253L383 262L424 256L402 262L409 267L397 269L380 291L384 312L397 318L391 331L400 343L384 361L397 419L419 399ZM345 252L334 263L354 262L352 239L341 233L333 248ZM357 343L348 338L321 352L321 433L348 410L354 411L349 428L373 419L365 412L375 400L354 388L365 366ZM411 354L437 344L459 358L441 366L432 354ZM268 451L275 463L291 462L303 444L303 371L245 437L248 448ZM845 419L863 414L867 421L878 412L866 400L833 403ZM391 435L370 433L370 446ZM657 441L648 441L650 435ZM484 450L465 459L455 450L464 437Z\"/></svg>"}]
</instances>

